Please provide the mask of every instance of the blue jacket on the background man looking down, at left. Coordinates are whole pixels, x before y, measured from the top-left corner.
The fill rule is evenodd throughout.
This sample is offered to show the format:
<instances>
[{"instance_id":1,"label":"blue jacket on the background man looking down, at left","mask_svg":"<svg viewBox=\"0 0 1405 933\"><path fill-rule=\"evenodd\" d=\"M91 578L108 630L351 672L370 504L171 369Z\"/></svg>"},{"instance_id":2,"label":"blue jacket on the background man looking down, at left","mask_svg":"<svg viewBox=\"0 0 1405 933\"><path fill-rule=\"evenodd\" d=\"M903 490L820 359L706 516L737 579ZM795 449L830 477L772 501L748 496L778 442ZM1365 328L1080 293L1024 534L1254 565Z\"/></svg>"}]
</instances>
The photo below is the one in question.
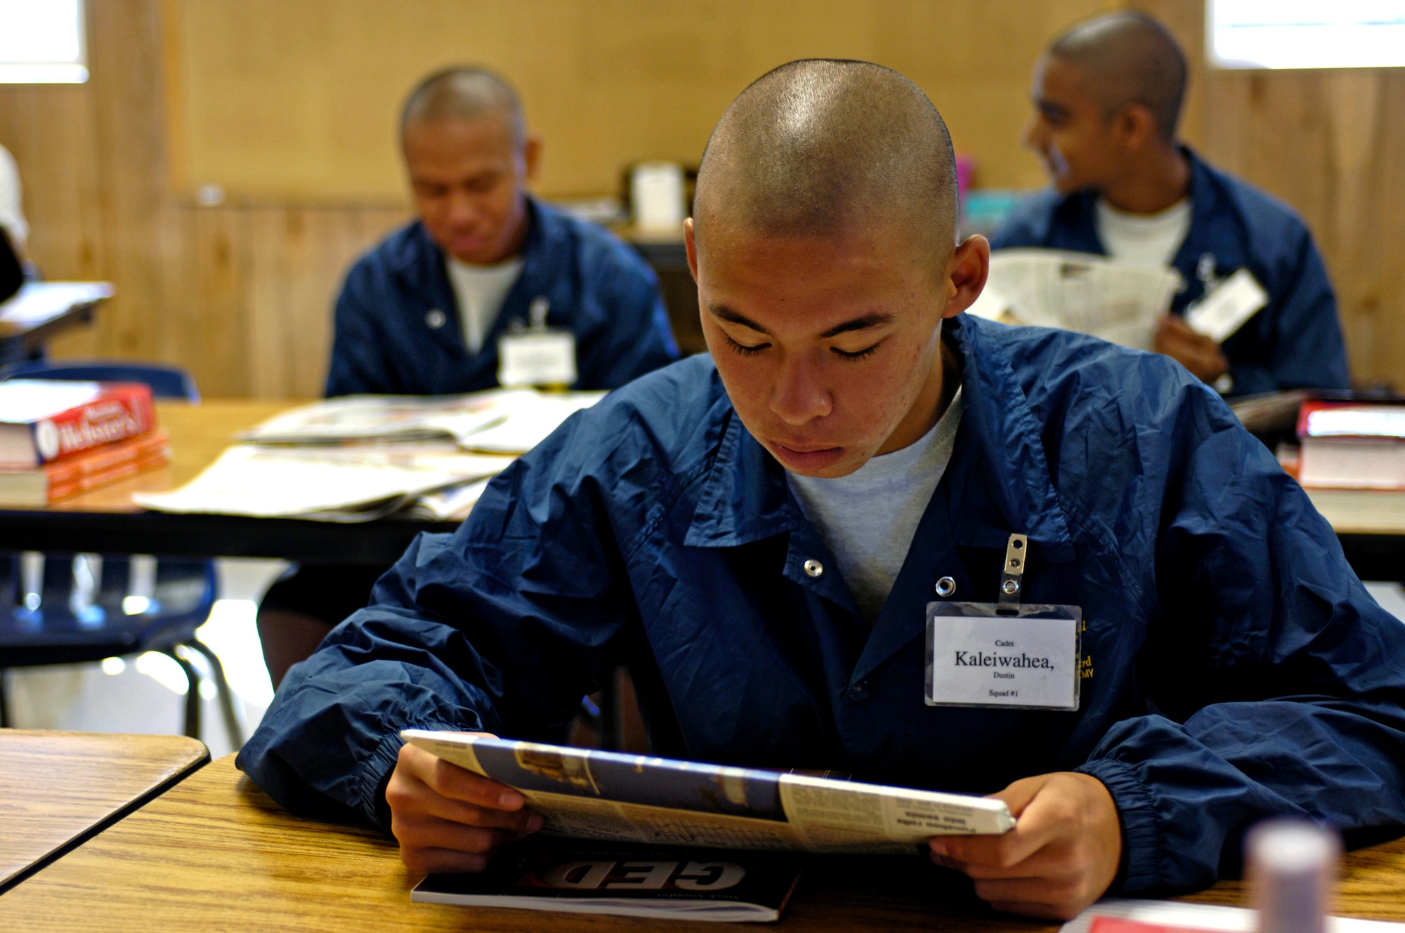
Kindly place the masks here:
<instances>
[{"instance_id":1,"label":"blue jacket on the background man looking down, at left","mask_svg":"<svg viewBox=\"0 0 1405 933\"><path fill-rule=\"evenodd\" d=\"M327 396L452 395L497 385L497 339L538 296L576 334L577 389L615 389L679 358L653 270L628 246L532 198L525 264L476 354L444 250L416 221L362 256L337 298Z\"/></svg>"}]
</instances>

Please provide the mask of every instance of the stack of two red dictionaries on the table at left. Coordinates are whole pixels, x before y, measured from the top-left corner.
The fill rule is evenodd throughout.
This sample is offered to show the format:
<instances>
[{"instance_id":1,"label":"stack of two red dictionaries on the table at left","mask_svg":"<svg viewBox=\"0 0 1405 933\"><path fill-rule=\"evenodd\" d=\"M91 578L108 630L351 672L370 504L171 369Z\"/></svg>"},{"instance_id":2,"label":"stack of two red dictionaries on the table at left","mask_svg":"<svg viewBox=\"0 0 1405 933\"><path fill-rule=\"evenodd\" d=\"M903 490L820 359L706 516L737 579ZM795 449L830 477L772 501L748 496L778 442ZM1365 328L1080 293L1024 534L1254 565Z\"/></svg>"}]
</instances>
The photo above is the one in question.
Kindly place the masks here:
<instances>
[{"instance_id":1,"label":"stack of two red dictionaries on the table at left","mask_svg":"<svg viewBox=\"0 0 1405 933\"><path fill-rule=\"evenodd\" d=\"M0 382L0 506L45 506L169 462L146 385Z\"/></svg>"}]
</instances>

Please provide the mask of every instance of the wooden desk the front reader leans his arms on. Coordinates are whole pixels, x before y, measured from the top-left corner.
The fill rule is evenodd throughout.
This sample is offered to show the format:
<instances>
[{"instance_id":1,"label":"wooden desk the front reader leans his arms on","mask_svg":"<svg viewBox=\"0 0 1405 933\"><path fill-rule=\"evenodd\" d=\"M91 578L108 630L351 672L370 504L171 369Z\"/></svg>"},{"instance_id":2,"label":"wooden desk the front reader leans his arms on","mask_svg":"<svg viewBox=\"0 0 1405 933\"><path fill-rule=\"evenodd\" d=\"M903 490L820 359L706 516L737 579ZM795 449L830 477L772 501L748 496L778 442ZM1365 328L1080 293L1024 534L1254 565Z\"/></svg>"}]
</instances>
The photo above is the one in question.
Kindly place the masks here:
<instances>
[{"instance_id":1,"label":"wooden desk the front reader leans his arms on","mask_svg":"<svg viewBox=\"0 0 1405 933\"><path fill-rule=\"evenodd\" d=\"M1347 856L1338 912L1405 919L1405 846ZM395 843L371 830L289 816L233 767L233 756L177 784L0 898L24 930L655 930L656 920L410 903L416 878ZM1242 903L1238 884L1196 901ZM783 930L1048 932L1000 916L968 882L920 859L816 859ZM717 930L715 923L667 923ZM747 927L760 929L760 927Z\"/></svg>"}]
</instances>

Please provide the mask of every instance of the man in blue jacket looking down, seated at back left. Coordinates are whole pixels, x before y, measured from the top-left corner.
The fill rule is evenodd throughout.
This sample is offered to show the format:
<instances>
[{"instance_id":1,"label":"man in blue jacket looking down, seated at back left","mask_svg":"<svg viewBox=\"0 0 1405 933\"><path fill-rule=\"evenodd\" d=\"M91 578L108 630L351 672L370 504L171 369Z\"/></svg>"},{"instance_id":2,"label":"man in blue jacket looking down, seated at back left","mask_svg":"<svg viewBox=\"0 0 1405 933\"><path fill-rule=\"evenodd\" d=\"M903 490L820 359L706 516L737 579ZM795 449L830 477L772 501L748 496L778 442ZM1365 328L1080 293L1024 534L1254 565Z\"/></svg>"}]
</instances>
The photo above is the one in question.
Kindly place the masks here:
<instances>
[{"instance_id":1,"label":"man in blue jacket looking down, seated at back left","mask_svg":"<svg viewBox=\"0 0 1405 933\"><path fill-rule=\"evenodd\" d=\"M347 274L327 396L496 388L499 341L534 323L573 334L572 388L615 389L677 360L643 260L527 193L541 143L506 80L430 74L405 104L400 143L419 219ZM259 634L274 684L365 606L385 569L305 565L270 589Z\"/></svg>"}]
</instances>

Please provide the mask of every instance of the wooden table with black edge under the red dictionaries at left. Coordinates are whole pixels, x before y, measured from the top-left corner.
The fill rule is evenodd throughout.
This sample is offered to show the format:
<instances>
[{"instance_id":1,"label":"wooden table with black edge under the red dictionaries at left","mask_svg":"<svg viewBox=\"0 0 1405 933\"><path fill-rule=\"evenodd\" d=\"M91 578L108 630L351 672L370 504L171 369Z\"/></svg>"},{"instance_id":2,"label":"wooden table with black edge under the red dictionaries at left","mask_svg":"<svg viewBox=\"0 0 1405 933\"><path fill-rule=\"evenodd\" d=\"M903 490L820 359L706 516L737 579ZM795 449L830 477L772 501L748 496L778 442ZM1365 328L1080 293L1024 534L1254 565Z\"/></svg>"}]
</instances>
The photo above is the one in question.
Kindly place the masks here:
<instances>
[{"instance_id":1,"label":"wooden table with black edge under the red dictionaries at left","mask_svg":"<svg viewBox=\"0 0 1405 933\"><path fill-rule=\"evenodd\" d=\"M0 551L94 551L164 556L254 556L337 563L393 563L420 531L452 531L457 521L392 517L360 524L181 516L148 511L133 492L174 489L212 464L235 436L295 402L251 399L157 402L156 420L171 436L163 469L48 507L0 509Z\"/></svg>"}]
</instances>

